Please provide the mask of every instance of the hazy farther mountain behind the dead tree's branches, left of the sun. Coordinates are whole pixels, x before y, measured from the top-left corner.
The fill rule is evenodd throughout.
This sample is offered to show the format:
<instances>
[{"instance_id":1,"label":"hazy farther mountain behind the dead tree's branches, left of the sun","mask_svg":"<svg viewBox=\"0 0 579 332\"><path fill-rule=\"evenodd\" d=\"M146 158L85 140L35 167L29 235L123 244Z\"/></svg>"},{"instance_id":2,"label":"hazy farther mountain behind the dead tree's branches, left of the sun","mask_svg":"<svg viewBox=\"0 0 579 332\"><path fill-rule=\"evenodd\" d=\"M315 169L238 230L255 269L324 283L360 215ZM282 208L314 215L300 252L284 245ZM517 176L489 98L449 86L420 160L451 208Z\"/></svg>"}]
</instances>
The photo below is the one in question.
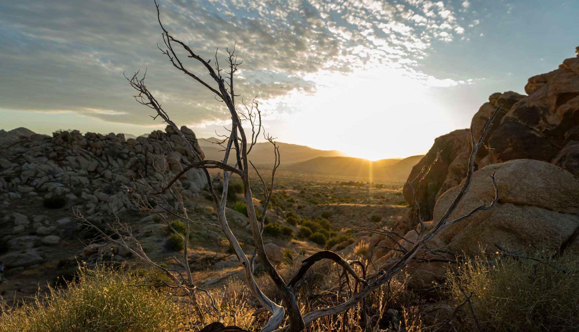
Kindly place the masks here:
<instances>
[{"instance_id":1,"label":"hazy farther mountain behind the dead tree's branches, left of the sun","mask_svg":"<svg viewBox=\"0 0 579 332\"><path fill-rule=\"evenodd\" d=\"M222 140L217 138L199 139L199 146L201 146L201 150L203 150L203 153L205 153L206 159L223 159L224 152L221 151L223 148L217 144L211 143L221 141ZM278 142L277 146L280 148L281 165L284 166L310 160L316 157L346 156L345 153L338 150L318 150L305 145ZM256 143L253 149L251 149L249 159L255 165L273 165L274 155L272 144L269 142ZM230 160L233 159L230 158Z\"/></svg>"}]
</instances>

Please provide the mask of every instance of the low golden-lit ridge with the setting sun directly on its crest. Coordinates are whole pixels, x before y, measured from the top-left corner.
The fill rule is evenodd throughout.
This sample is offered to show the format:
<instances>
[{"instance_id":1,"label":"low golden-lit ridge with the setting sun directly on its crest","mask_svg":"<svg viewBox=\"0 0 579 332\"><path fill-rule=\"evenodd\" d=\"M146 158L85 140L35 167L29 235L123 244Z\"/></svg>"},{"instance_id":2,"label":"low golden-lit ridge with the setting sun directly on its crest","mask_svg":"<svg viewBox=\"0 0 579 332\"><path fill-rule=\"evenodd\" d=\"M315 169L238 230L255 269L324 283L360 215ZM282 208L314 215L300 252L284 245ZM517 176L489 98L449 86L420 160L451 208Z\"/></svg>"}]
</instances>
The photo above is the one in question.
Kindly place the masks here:
<instances>
[{"instance_id":1,"label":"low golden-lit ridge with the setting sun directly on its crest","mask_svg":"<svg viewBox=\"0 0 579 332\"><path fill-rule=\"evenodd\" d=\"M423 156L370 161L352 157L316 157L288 166L288 171L357 178L406 179Z\"/></svg>"}]
</instances>

